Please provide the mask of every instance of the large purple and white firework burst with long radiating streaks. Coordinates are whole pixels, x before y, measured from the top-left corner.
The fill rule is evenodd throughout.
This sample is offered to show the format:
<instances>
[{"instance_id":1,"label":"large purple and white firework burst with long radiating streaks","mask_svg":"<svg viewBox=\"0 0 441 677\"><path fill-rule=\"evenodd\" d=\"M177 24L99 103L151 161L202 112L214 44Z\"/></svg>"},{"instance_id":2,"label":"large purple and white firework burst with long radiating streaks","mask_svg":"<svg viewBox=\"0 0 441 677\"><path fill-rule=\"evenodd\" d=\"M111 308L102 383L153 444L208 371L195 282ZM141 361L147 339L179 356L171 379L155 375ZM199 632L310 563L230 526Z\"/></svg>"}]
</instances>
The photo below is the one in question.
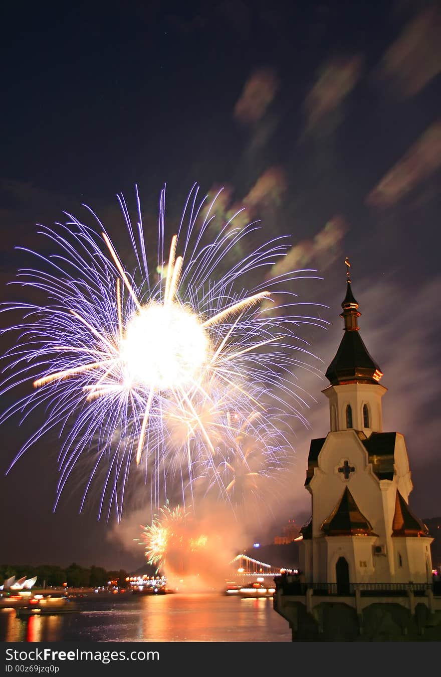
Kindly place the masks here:
<instances>
[{"instance_id":1,"label":"large purple and white firework burst with long radiating streaks","mask_svg":"<svg viewBox=\"0 0 441 677\"><path fill-rule=\"evenodd\" d=\"M68 483L81 481L80 510L93 494L106 519L121 518L132 486L147 492L152 515L169 500L195 509L207 495L234 511L289 460L287 418L306 422L295 374L317 372L299 328L327 324L312 308L319 304L304 313L292 288L317 271L273 275L290 238L258 240L261 226L243 225L243 210L219 223L217 198L193 185L177 232L168 232L164 187L152 250L137 187L135 220L118 195L127 261L88 206L83 220L66 213L64 223L39 227L48 255L24 248L36 263L15 284L32 301L3 307L23 319L6 330L2 393L23 384L28 392L0 422L44 412L11 467L52 435L54 509Z\"/></svg>"}]
</instances>

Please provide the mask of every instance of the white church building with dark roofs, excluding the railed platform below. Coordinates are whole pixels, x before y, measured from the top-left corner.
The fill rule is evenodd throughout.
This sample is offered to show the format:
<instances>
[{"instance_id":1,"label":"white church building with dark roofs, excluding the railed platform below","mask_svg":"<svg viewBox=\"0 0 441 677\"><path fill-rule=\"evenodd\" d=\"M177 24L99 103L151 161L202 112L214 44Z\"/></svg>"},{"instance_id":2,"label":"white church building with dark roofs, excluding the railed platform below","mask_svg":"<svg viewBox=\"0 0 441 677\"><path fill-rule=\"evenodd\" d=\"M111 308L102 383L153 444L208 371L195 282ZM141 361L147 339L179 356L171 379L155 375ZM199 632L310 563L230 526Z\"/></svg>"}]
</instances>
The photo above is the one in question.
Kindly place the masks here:
<instances>
[{"instance_id":1,"label":"white church building with dark roofs, excluding the railed platform below","mask_svg":"<svg viewBox=\"0 0 441 677\"><path fill-rule=\"evenodd\" d=\"M358 328L347 268L344 334L329 365L330 431L312 439L305 486L312 518L302 528L307 584L431 583L432 538L409 508L413 485L404 437L384 432L383 376Z\"/></svg>"}]
</instances>

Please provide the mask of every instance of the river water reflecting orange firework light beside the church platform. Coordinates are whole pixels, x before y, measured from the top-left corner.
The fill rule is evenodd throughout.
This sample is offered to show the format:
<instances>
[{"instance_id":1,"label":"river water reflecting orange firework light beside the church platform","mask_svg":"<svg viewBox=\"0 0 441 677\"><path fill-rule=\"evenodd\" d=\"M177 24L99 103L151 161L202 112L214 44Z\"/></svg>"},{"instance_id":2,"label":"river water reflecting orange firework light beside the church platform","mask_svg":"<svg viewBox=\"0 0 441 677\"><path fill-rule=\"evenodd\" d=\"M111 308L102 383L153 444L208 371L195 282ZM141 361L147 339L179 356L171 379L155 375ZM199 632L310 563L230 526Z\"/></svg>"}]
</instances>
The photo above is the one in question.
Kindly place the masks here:
<instances>
[{"instance_id":1,"label":"river water reflecting orange firework light beside the church platform","mask_svg":"<svg viewBox=\"0 0 441 677\"><path fill-rule=\"evenodd\" d=\"M83 613L16 618L0 613L6 642L289 642L286 621L271 598L166 594L85 598Z\"/></svg>"}]
</instances>

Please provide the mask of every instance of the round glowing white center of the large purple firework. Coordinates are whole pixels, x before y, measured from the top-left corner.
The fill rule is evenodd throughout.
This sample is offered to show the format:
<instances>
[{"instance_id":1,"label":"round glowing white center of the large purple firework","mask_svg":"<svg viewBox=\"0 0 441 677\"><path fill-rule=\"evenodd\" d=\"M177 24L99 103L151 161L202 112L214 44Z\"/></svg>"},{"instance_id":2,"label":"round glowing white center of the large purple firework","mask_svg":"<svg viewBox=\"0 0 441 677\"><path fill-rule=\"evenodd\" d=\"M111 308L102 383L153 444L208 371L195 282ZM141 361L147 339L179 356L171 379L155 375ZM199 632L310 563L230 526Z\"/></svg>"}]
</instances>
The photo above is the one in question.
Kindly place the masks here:
<instances>
[{"instance_id":1,"label":"round glowing white center of the large purple firework","mask_svg":"<svg viewBox=\"0 0 441 677\"><path fill-rule=\"evenodd\" d=\"M154 390L189 387L208 362L210 340L198 315L151 301L126 326L121 357L132 383Z\"/></svg>"}]
</instances>

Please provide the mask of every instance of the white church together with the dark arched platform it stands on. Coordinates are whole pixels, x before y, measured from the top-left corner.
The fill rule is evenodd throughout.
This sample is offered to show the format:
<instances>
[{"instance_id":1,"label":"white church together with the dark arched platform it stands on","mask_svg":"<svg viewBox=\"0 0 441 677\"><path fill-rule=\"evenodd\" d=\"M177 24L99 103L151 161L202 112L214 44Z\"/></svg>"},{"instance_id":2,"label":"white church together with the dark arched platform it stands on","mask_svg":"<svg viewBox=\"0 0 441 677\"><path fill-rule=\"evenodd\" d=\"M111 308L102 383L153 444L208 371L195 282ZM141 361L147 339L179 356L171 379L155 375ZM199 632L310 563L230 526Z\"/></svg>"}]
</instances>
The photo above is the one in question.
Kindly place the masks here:
<instances>
[{"instance_id":1,"label":"white church together with the dark arched platform it stands on","mask_svg":"<svg viewBox=\"0 0 441 677\"><path fill-rule=\"evenodd\" d=\"M311 440L308 454L312 517L301 529L302 576L281 577L274 607L289 621L293 640L356 639L369 636L369 628L386 628L381 639L421 638L426 621L438 639L433 539L409 508L413 484L404 437L383 429L387 389L361 338L345 263L344 334L323 391L330 430Z\"/></svg>"}]
</instances>

